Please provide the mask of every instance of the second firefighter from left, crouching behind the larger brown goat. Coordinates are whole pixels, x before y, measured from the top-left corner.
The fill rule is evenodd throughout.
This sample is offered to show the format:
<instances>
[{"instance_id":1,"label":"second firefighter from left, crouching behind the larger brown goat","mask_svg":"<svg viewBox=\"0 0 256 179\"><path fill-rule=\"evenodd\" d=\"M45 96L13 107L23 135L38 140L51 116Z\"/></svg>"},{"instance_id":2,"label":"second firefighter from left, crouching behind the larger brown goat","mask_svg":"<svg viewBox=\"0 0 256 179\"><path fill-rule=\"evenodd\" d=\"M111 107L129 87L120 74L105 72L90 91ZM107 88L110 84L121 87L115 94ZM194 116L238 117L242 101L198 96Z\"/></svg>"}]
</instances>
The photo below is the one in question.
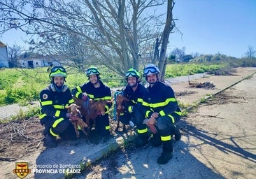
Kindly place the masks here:
<instances>
[{"instance_id":1,"label":"second firefighter from left, crouching behind the larger brown goat","mask_svg":"<svg viewBox=\"0 0 256 179\"><path fill-rule=\"evenodd\" d=\"M99 72L99 69L97 69L97 67L90 67L85 73L89 81L73 88L71 91L72 95L76 98L83 99L84 101L89 98L94 101L98 101L99 99L111 101L111 90L100 80L99 75L101 73ZM110 136L111 134L108 119L108 111L111 106L112 103L107 103L105 106L105 115L98 115L96 118L95 129L100 136Z\"/></svg>"}]
</instances>

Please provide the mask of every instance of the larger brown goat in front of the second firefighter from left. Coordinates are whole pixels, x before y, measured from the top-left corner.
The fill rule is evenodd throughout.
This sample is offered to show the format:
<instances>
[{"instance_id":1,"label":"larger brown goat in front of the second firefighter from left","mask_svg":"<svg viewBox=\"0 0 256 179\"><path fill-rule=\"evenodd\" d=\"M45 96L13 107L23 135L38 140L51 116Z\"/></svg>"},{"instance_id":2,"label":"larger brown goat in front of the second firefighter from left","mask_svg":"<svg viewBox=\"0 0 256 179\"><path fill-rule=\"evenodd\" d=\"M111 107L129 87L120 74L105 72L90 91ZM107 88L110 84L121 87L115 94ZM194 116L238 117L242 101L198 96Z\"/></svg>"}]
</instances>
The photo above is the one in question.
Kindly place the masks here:
<instances>
[{"instance_id":1,"label":"larger brown goat in front of the second firefighter from left","mask_svg":"<svg viewBox=\"0 0 256 179\"><path fill-rule=\"evenodd\" d=\"M105 115L105 106L108 101L104 101L99 99L99 101L94 101L92 99L88 99L87 101L83 101L83 99L74 98L75 103L78 106L81 106L80 112L81 115L85 117L85 123L88 126L88 132L91 130L90 120L93 120L93 124L96 125L96 117L98 115Z\"/></svg>"}]
</instances>

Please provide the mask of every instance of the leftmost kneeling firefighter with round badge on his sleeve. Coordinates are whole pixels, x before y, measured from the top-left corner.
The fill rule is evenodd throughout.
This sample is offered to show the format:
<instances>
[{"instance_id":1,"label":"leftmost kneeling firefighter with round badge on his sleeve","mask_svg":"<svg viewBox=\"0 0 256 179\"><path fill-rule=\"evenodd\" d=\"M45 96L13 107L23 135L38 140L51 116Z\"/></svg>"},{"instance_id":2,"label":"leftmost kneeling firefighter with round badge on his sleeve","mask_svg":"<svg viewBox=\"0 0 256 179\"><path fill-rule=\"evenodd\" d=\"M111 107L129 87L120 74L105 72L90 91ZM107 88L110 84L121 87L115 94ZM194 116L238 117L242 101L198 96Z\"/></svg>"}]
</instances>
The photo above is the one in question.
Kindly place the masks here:
<instances>
[{"instance_id":1,"label":"leftmost kneeling firefighter with round badge on his sleeve","mask_svg":"<svg viewBox=\"0 0 256 179\"><path fill-rule=\"evenodd\" d=\"M51 83L40 92L40 123L45 127L44 144L49 148L57 147L56 137L64 139L75 139L76 132L73 129L71 120L76 120L67 113L65 107L73 103L73 97L69 87L64 85L66 81L66 70L62 66L55 66L50 69Z\"/></svg>"}]
</instances>

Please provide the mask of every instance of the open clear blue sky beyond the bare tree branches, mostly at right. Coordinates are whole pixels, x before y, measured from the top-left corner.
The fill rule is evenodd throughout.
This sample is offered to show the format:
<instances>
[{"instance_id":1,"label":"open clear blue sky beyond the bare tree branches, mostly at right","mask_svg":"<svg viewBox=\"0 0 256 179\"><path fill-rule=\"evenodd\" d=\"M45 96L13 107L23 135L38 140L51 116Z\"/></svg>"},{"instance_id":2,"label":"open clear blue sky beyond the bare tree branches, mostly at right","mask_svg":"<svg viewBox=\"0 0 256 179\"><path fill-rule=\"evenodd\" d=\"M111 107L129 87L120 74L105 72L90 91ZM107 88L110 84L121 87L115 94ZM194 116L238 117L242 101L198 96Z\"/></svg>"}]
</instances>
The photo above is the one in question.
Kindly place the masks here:
<instances>
[{"instance_id":1,"label":"open clear blue sky beyond the bare tree branches, mostly at right","mask_svg":"<svg viewBox=\"0 0 256 179\"><path fill-rule=\"evenodd\" d=\"M167 53L185 47L187 55L220 53L245 57L248 46L256 50L256 0L174 0L173 18L178 31L171 33ZM166 12L166 6L159 8ZM27 36L12 30L0 41L10 47L24 45Z\"/></svg>"}]
</instances>

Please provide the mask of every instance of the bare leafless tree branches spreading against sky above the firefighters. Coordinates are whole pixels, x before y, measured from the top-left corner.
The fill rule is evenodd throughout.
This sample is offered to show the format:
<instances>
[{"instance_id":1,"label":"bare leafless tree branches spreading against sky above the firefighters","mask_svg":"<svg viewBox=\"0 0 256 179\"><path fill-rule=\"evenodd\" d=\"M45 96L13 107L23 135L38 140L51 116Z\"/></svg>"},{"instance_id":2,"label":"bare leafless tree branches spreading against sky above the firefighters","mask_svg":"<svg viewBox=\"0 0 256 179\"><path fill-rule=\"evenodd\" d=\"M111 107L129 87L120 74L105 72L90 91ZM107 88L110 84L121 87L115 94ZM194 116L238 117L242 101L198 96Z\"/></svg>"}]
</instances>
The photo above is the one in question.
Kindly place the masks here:
<instances>
[{"instance_id":1,"label":"bare leafless tree branches spreading against sky above the firefighters","mask_svg":"<svg viewBox=\"0 0 256 179\"><path fill-rule=\"evenodd\" d=\"M69 59L66 64L78 69L103 64L123 76L131 67L156 62L155 50L165 57L173 1L167 13L154 10L166 1L0 0L0 34L20 29L43 55Z\"/></svg>"}]
</instances>

